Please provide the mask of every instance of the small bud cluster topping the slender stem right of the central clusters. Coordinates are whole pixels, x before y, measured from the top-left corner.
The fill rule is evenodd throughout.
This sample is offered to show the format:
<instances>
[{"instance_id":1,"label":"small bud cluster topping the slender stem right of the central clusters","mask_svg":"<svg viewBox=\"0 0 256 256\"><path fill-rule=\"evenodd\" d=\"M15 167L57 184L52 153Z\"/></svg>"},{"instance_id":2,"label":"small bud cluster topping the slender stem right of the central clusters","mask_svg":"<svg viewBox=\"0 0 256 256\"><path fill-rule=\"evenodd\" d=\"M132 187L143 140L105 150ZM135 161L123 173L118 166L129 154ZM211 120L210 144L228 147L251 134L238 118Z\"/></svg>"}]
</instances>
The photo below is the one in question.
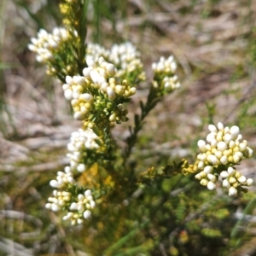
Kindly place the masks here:
<instances>
[{"instance_id":1,"label":"small bud cluster topping the slender stem right of the central clusters","mask_svg":"<svg viewBox=\"0 0 256 256\"><path fill-rule=\"evenodd\" d=\"M169 56L168 59L160 57L159 62L152 64L154 71L154 87L163 91L163 93L172 92L180 87L180 83L177 79L176 70L177 64L174 61L173 56Z\"/></svg>"}]
</instances>

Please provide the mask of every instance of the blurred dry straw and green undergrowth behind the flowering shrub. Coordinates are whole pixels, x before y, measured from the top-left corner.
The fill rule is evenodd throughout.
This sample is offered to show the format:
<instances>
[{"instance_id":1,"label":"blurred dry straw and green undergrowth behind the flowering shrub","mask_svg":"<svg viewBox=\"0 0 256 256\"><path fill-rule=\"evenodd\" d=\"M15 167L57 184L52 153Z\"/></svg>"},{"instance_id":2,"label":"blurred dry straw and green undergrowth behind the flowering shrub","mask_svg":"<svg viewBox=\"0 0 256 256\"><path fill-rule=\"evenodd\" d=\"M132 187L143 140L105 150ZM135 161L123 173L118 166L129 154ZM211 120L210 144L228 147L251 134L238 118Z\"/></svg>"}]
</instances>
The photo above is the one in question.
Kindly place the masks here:
<instances>
[{"instance_id":1,"label":"blurred dry straw and green undergrowth behind the flowering shrub","mask_svg":"<svg viewBox=\"0 0 256 256\"><path fill-rule=\"evenodd\" d=\"M49 79L27 49L39 28L51 32L61 25L58 4L0 2L1 256L88 255L83 241L87 233L65 226L44 209L49 180L67 165L66 145L79 127L61 84ZM172 54L179 63L182 88L148 116L134 148L137 166L143 162L141 171L156 162L193 159L207 124L218 121L239 125L256 149L255 16L253 0L90 0L88 42L110 47L131 41L142 52L149 79L151 63L160 55ZM138 88L131 113L138 111L147 86ZM128 125L113 131L121 145ZM254 166L255 158L242 163L240 171L255 180ZM173 196L173 204L164 206L175 219L169 239L179 239L167 249L160 244L152 255L256 255L256 189L230 199L204 188L190 189L193 180L175 177L160 183L162 195Z\"/></svg>"}]
</instances>

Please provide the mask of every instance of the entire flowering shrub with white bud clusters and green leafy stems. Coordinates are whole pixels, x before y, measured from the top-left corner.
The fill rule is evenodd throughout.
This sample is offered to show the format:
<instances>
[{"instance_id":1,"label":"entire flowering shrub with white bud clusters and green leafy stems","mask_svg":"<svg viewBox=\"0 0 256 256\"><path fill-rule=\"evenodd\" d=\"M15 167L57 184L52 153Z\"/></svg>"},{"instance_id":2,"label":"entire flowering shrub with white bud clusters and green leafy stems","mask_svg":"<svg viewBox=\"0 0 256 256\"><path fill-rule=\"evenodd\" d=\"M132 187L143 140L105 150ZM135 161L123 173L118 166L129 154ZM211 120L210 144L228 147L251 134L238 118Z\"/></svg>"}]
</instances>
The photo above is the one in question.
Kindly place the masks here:
<instances>
[{"instance_id":1,"label":"entire flowering shrub with white bud clusters and green leafy stems","mask_svg":"<svg viewBox=\"0 0 256 256\"><path fill-rule=\"evenodd\" d=\"M106 255L111 255L109 252L122 247L123 241L131 237L135 239L137 232L151 234L160 225L154 218L154 207L150 203L137 206L140 195L151 198L153 193L159 193L159 179L194 173L201 185L213 190L221 178L228 194L236 196L246 192L245 187L253 184L251 178L242 176L235 167L241 160L251 157L253 150L247 146L246 140L242 140L238 126L229 128L218 123L217 126L209 125L207 142L198 142L201 153L193 165L183 159L178 163L152 166L146 172L136 173L129 166L131 150L148 113L163 96L180 87L177 64L172 55L160 57L160 61L152 64L154 77L147 102L140 102L141 113L134 115L134 127L130 127L126 147L119 148L111 133L112 127L128 120L125 105L131 102L137 92L137 84L144 81L146 76L140 53L133 44L114 44L111 49L99 44L84 44L87 4L82 0L63 1L60 9L65 27L56 27L52 33L41 29L38 38L32 38L28 48L37 54L37 61L46 65L49 75L61 80L64 97L73 108L73 118L81 121L81 128L72 133L67 144L69 165L64 172L57 172L55 179L49 182L55 190L45 207L54 212L65 212L62 219L72 225L84 224L87 227L90 221L96 221L101 216L103 218L104 214L115 226L112 214L119 217L124 215L125 220L120 220L120 226L113 230L113 239L119 237L120 240L108 249L104 247ZM151 191L150 186L154 183L157 187ZM160 199L157 205L168 206L167 195L165 198L166 201ZM134 211L135 206L138 207L137 212ZM181 220L187 206L181 200L178 207L177 220ZM143 224L137 225L137 221ZM125 230L128 228L129 232ZM102 234L104 232L106 230L102 229ZM141 237L145 247L134 251L131 249L131 252L145 248L150 250L158 243L157 239L154 242L151 238L148 240L151 235Z\"/></svg>"}]
</instances>

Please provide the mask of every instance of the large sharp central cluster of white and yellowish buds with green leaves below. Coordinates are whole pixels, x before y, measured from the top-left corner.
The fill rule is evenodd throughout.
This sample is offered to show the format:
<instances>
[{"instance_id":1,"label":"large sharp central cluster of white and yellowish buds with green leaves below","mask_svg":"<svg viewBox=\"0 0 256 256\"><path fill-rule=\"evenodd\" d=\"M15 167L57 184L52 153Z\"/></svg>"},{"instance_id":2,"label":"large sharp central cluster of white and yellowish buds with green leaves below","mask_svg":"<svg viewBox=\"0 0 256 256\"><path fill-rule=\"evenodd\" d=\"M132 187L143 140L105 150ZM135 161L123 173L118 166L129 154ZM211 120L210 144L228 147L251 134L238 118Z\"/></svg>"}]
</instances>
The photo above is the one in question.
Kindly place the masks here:
<instances>
[{"instance_id":1,"label":"large sharp central cluster of white and yellowish buds with green leaves below","mask_svg":"<svg viewBox=\"0 0 256 256\"><path fill-rule=\"evenodd\" d=\"M74 118L84 120L85 124L96 118L98 121L106 118L111 122L126 121L128 112L120 102L127 102L136 93L136 88L127 80L119 82L114 77L116 68L103 57L98 64L91 57L87 57L86 62L84 76L67 76L67 84L62 86L64 96L73 106Z\"/></svg>"}]
</instances>

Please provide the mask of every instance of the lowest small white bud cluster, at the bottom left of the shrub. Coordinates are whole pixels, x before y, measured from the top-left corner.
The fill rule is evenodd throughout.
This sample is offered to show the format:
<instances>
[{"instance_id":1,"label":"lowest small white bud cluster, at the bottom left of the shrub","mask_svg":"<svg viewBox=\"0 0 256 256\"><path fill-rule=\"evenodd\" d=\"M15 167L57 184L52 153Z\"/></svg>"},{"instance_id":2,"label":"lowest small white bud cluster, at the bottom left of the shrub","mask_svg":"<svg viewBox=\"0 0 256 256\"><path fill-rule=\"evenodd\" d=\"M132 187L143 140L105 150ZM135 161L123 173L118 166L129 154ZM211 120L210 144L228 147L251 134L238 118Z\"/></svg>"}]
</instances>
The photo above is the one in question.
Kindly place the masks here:
<instances>
[{"instance_id":1,"label":"lowest small white bud cluster, at the bottom left of the shrub","mask_svg":"<svg viewBox=\"0 0 256 256\"><path fill-rule=\"evenodd\" d=\"M90 218L90 210L96 207L96 202L91 194L90 189L85 190L84 195L79 194L76 202L72 202L67 215L63 217L63 220L70 220L71 224L82 224L83 218Z\"/></svg>"}]
</instances>

